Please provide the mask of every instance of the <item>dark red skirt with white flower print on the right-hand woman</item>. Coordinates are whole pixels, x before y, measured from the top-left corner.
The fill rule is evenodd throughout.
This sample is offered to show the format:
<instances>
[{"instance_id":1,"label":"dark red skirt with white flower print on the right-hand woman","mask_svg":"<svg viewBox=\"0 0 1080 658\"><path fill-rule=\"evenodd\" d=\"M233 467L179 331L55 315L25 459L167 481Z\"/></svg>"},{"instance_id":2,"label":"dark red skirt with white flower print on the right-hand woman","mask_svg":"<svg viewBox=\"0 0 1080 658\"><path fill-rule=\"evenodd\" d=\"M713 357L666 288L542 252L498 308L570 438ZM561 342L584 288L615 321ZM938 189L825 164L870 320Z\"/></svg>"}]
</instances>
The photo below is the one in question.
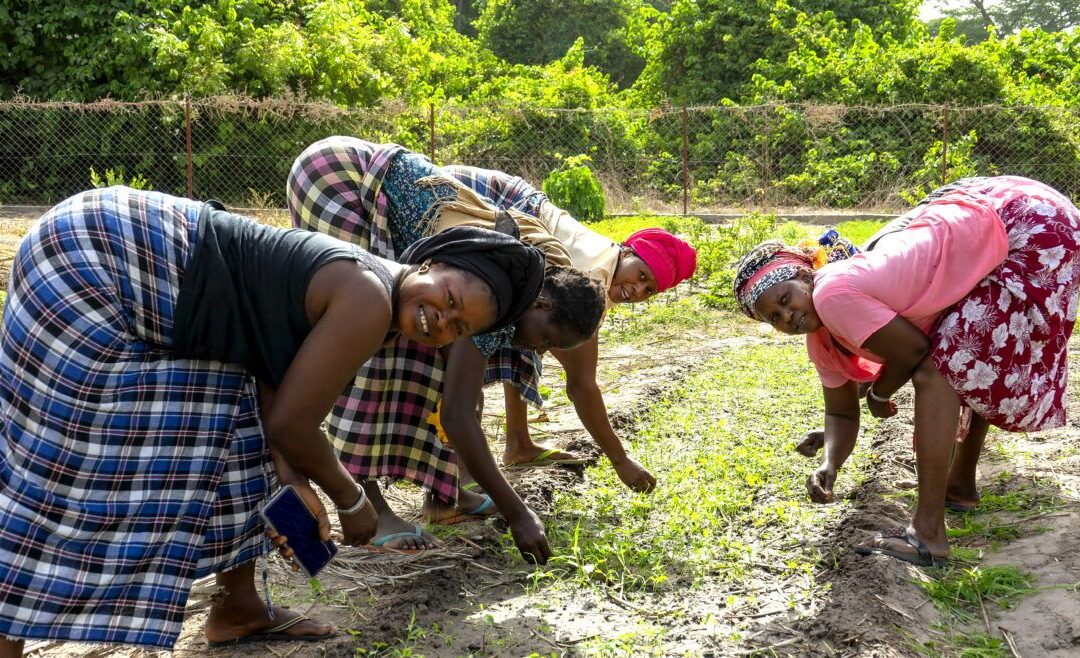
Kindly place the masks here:
<instances>
[{"instance_id":1,"label":"dark red skirt with white flower print on the right-hand woman","mask_svg":"<svg viewBox=\"0 0 1080 658\"><path fill-rule=\"evenodd\" d=\"M1080 212L1056 190L1024 178L998 213L1009 255L939 320L929 358L962 404L1009 431L1065 422L1068 340L1080 287ZM988 190L984 190L988 191Z\"/></svg>"}]
</instances>

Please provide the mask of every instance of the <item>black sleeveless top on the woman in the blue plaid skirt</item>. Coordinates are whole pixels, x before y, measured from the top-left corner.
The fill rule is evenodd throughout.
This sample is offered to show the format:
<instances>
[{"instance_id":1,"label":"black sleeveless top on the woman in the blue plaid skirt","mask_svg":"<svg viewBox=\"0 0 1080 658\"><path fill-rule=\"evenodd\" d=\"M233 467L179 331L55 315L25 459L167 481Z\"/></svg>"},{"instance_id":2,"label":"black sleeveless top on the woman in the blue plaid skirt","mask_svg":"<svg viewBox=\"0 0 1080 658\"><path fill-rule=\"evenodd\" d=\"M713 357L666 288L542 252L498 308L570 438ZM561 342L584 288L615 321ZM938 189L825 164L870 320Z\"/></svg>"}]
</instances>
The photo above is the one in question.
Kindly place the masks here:
<instances>
[{"instance_id":1,"label":"black sleeveless top on the woman in the blue plaid skirt","mask_svg":"<svg viewBox=\"0 0 1080 658\"><path fill-rule=\"evenodd\" d=\"M173 351L239 363L276 389L311 332L308 284L334 260L356 260L387 287L375 256L323 233L284 230L233 215L215 202L199 216L199 239L180 280Z\"/></svg>"}]
</instances>

